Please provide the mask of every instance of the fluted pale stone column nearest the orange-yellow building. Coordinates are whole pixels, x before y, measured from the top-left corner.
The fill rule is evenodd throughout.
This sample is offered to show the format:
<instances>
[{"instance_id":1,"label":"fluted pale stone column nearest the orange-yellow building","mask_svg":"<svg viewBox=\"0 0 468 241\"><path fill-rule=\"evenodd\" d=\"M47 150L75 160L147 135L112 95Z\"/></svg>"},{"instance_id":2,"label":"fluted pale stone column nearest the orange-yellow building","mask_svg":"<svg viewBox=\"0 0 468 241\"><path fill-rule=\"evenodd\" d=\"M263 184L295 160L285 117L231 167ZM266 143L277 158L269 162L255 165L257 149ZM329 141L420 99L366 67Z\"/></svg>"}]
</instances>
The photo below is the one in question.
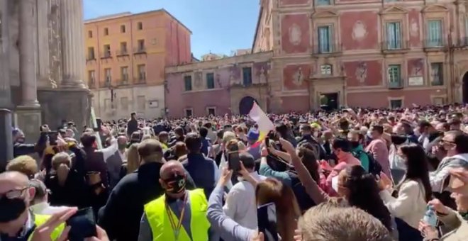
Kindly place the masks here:
<instances>
[{"instance_id":1,"label":"fluted pale stone column nearest the orange-yellow building","mask_svg":"<svg viewBox=\"0 0 468 241\"><path fill-rule=\"evenodd\" d=\"M82 89L84 75L83 1L60 1L62 34L62 83L64 88Z\"/></svg>"}]
</instances>

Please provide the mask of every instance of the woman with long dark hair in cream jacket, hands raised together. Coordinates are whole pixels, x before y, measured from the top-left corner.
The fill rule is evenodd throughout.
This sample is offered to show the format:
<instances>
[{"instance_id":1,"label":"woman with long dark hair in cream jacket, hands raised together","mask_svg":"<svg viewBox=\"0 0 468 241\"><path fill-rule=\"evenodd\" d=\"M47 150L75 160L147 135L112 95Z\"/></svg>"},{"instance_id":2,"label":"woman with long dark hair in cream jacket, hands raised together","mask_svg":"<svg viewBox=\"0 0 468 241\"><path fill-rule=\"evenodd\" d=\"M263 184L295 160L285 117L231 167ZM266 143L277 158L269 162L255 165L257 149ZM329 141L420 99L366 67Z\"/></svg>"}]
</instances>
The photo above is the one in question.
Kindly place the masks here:
<instances>
[{"instance_id":1,"label":"woman with long dark hair in cream jacket, hands raised together","mask_svg":"<svg viewBox=\"0 0 468 241\"><path fill-rule=\"evenodd\" d=\"M380 196L392 215L395 216L399 240L423 240L418 231L419 220L424 217L426 203L432 199L428 162L423 147L416 144L401 145L396 152L406 165L406 174L391 189L379 182Z\"/></svg>"}]
</instances>

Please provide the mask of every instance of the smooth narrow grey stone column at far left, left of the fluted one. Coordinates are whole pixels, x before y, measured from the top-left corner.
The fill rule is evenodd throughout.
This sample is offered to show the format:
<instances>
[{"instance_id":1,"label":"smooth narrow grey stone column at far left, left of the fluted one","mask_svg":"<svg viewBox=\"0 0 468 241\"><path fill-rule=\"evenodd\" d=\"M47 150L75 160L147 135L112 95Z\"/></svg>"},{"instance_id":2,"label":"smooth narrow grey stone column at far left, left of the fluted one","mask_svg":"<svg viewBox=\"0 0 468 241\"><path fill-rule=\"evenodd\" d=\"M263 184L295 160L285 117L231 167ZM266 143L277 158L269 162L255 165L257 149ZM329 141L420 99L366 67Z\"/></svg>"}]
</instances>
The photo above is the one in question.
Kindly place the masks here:
<instances>
[{"instance_id":1,"label":"smooth narrow grey stone column at far left, left of the fluted one","mask_svg":"<svg viewBox=\"0 0 468 241\"><path fill-rule=\"evenodd\" d=\"M39 107L37 77L35 72L35 39L31 38L35 29L35 0L19 1L19 52L21 106Z\"/></svg>"}]
</instances>

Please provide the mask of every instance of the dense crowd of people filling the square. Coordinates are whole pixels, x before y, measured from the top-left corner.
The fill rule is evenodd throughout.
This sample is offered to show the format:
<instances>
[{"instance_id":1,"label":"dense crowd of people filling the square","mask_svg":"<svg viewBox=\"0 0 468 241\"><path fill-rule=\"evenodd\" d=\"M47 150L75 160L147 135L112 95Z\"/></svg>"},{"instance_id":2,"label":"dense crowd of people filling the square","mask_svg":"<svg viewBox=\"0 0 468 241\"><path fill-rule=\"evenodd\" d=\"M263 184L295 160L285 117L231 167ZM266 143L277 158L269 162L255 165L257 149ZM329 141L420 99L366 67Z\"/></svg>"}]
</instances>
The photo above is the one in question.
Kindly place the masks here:
<instances>
[{"instance_id":1,"label":"dense crowd of people filling the square","mask_svg":"<svg viewBox=\"0 0 468 241\"><path fill-rule=\"evenodd\" d=\"M468 106L267 116L15 128L0 241L468 240Z\"/></svg>"}]
</instances>

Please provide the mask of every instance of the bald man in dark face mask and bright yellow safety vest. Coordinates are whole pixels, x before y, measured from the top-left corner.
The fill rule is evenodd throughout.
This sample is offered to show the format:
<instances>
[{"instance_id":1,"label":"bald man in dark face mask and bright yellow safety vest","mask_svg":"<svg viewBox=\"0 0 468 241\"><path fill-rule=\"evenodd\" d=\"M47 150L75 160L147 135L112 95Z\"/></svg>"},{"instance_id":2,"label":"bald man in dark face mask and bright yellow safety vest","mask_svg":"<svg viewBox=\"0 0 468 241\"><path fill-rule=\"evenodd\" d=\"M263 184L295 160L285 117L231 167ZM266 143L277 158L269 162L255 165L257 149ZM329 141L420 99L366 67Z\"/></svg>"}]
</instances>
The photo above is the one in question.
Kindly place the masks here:
<instances>
[{"instance_id":1,"label":"bald man in dark face mask and bright yellow safety vest","mask_svg":"<svg viewBox=\"0 0 468 241\"><path fill-rule=\"evenodd\" d=\"M177 161L162 165L160 177L165 194L145 205L138 240L208 240L210 223L203 189L186 191L186 172Z\"/></svg>"}]
</instances>

